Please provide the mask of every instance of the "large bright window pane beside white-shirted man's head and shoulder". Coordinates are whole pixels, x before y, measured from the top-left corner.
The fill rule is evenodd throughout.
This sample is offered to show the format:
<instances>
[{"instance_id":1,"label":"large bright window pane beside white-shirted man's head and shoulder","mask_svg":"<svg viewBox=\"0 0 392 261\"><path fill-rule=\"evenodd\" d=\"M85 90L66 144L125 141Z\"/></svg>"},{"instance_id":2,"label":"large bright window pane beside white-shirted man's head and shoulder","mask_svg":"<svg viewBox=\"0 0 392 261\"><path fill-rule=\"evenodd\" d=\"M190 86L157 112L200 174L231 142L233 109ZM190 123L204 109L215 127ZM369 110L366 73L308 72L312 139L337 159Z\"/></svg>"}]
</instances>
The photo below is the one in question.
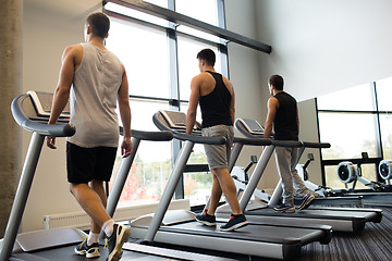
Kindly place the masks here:
<instances>
[{"instance_id":1,"label":"large bright window pane beside white-shirted man's head and shoulder","mask_svg":"<svg viewBox=\"0 0 392 261\"><path fill-rule=\"evenodd\" d=\"M109 34L107 46L126 69L130 95L169 98L166 30L112 18Z\"/></svg>"}]
</instances>

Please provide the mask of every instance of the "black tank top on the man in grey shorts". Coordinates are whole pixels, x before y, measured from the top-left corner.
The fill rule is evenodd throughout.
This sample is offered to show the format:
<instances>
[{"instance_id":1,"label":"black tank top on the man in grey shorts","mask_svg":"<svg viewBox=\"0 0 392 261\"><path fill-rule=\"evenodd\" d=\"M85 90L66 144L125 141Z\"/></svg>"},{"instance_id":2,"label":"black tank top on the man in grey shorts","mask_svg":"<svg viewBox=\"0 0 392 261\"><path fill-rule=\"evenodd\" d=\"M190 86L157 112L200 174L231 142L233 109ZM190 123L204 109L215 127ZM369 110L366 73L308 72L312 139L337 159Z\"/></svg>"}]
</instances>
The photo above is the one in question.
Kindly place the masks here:
<instances>
[{"instance_id":1,"label":"black tank top on the man in grey shorts","mask_svg":"<svg viewBox=\"0 0 392 261\"><path fill-rule=\"evenodd\" d=\"M216 80L213 90L200 96L199 104L201 110L201 127L215 125L233 125L230 116L231 94L223 83L222 75L207 71Z\"/></svg>"}]
</instances>

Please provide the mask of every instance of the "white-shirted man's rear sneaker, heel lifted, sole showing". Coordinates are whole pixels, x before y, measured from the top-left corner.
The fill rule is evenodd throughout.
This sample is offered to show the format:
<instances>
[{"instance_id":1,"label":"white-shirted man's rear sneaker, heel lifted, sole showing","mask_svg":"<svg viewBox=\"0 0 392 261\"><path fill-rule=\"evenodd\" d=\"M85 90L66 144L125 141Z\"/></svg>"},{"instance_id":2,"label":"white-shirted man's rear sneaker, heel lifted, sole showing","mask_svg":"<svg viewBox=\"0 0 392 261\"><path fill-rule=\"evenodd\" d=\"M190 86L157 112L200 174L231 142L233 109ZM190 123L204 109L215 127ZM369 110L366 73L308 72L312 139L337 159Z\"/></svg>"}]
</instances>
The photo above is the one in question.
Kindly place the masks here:
<instances>
[{"instance_id":1,"label":"white-shirted man's rear sneaker, heel lifted, sole showing","mask_svg":"<svg viewBox=\"0 0 392 261\"><path fill-rule=\"evenodd\" d=\"M107 261L118 261L122 257L122 246L130 239L131 229L130 227L114 224L113 234L108 237L107 246L109 254Z\"/></svg>"}]
</instances>

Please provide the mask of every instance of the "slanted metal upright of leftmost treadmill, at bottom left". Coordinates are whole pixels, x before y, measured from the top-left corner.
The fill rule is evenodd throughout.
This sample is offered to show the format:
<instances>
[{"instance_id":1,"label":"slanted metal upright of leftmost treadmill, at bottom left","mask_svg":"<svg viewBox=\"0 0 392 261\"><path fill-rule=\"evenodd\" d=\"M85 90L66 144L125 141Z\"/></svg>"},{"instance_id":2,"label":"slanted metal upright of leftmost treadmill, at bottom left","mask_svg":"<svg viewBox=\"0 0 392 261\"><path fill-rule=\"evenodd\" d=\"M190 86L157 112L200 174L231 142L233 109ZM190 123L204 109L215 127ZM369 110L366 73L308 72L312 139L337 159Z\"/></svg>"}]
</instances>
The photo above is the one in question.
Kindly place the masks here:
<instances>
[{"instance_id":1,"label":"slanted metal upright of leftmost treadmill, at bottom left","mask_svg":"<svg viewBox=\"0 0 392 261\"><path fill-rule=\"evenodd\" d=\"M21 225L23 212L26 207L29 190L32 188L34 174L37 167L40 151L42 149L45 136L33 133L28 147L25 163L22 170L21 179L17 186L14 203L7 225L0 261L8 261L17 236L17 229Z\"/></svg>"}]
</instances>

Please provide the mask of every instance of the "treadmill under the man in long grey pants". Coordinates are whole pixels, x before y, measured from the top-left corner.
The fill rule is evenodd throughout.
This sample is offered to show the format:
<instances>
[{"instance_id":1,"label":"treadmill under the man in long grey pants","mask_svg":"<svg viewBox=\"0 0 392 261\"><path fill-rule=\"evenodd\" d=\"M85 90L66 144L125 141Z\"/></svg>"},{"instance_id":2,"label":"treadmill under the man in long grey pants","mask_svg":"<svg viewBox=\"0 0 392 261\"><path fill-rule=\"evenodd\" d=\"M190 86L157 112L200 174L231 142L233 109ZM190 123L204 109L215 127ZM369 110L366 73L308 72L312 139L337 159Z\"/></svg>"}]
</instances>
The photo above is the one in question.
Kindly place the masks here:
<instances>
[{"instance_id":1,"label":"treadmill under the man in long grey pants","mask_svg":"<svg viewBox=\"0 0 392 261\"><path fill-rule=\"evenodd\" d=\"M237 120L235 121L235 127L250 138L258 138L261 136L261 133L264 133L262 127L254 120ZM256 165L248 185L240 200L240 206L243 211L249 202L253 191L260 181L268 160L277 146L301 148L303 144L301 141L292 140L272 140L272 145L266 147L258 162L258 164L261 164L262 160L264 167L258 167L258 164ZM265 157L267 157L267 159ZM225 208L219 208L217 210L217 216L229 216L230 213L224 211L224 209ZM323 224L330 225L333 231L342 232L362 232L365 228L366 222L379 223L382 220L382 210L362 208L316 208L310 206L309 209L301 211L297 210L295 213L280 213L275 212L270 204L268 208L244 211L244 213L249 221L267 222L273 220L275 222L280 222L281 224L291 223L297 224L298 226L302 226L303 224Z\"/></svg>"}]
</instances>

